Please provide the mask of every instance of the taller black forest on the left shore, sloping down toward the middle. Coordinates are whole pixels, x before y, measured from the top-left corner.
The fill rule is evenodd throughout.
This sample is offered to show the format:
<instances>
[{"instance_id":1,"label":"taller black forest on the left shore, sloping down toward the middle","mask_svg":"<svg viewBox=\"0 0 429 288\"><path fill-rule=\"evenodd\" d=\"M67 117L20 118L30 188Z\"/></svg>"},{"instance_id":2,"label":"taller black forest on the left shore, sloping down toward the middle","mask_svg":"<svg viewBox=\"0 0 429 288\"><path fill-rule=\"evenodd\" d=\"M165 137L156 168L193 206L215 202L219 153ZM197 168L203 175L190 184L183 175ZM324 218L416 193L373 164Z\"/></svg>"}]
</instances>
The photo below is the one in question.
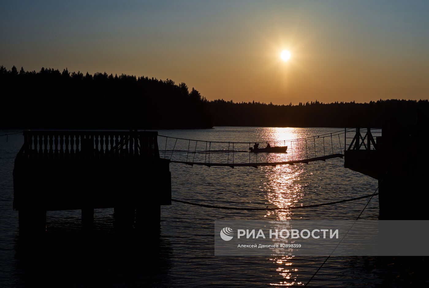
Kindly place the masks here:
<instances>
[{"instance_id":1,"label":"taller black forest on the left shore, sloping down toward the middle","mask_svg":"<svg viewBox=\"0 0 429 288\"><path fill-rule=\"evenodd\" d=\"M208 101L173 80L0 67L0 127L211 128Z\"/></svg>"}]
</instances>

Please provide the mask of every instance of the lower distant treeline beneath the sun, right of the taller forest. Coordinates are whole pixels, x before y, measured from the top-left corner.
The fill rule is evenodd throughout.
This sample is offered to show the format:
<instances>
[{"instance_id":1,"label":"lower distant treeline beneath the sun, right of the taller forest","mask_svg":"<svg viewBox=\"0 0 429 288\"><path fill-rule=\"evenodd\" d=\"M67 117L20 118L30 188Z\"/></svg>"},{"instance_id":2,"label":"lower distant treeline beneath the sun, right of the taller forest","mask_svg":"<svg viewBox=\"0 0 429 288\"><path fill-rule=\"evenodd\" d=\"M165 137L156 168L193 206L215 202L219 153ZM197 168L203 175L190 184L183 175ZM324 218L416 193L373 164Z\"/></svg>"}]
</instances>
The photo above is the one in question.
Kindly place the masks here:
<instances>
[{"instance_id":1,"label":"lower distant treeline beneath the sun, right of the taller forest","mask_svg":"<svg viewBox=\"0 0 429 288\"><path fill-rule=\"evenodd\" d=\"M389 117L408 125L415 119L417 110L429 116L427 99L329 104L316 100L298 105L215 100L210 101L209 105L217 126L381 127L382 119Z\"/></svg>"}]
</instances>

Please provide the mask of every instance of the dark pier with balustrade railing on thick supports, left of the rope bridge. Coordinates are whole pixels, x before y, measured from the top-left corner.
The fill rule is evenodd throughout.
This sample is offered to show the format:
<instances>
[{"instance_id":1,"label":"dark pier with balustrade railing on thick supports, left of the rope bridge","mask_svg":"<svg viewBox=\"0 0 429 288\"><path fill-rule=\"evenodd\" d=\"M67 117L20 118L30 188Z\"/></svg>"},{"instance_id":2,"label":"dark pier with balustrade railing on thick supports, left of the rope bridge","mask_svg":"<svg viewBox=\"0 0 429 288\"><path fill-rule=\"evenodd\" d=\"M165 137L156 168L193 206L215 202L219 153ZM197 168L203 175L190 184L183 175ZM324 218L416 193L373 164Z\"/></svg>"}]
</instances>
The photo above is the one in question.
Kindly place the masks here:
<instances>
[{"instance_id":1,"label":"dark pier with balustrade railing on thick supports, left of the rope bridge","mask_svg":"<svg viewBox=\"0 0 429 288\"><path fill-rule=\"evenodd\" d=\"M160 229L160 205L171 205L169 161L157 132L24 131L13 171L20 235L45 231L46 211L114 208L118 229Z\"/></svg>"}]
</instances>

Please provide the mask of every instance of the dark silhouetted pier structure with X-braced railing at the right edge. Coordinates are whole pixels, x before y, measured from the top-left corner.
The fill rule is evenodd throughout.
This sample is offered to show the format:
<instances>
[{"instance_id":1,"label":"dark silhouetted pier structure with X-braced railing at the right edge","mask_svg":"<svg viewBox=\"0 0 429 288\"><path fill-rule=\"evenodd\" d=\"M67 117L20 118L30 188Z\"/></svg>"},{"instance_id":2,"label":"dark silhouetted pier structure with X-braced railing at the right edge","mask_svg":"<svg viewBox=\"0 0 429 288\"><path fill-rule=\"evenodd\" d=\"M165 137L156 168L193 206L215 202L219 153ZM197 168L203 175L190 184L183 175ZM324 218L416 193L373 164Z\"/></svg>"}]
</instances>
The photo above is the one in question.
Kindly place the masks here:
<instances>
[{"instance_id":1,"label":"dark silhouetted pier structure with X-braced railing at the right edge","mask_svg":"<svg viewBox=\"0 0 429 288\"><path fill-rule=\"evenodd\" d=\"M382 136L356 129L344 151L344 167L378 180L380 219L427 219L428 122L417 113L411 124L384 119Z\"/></svg>"}]
</instances>

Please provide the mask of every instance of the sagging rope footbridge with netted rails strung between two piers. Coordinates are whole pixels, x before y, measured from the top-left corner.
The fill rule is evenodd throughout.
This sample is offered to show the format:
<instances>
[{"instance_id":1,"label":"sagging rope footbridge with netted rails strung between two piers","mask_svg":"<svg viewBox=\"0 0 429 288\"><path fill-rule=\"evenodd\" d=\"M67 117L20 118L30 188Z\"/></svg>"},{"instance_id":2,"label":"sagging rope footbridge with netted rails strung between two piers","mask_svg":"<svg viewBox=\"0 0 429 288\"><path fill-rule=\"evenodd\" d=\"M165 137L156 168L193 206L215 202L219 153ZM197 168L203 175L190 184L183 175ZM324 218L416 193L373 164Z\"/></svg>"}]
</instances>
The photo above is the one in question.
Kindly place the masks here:
<instances>
[{"instance_id":1,"label":"sagging rope footbridge with netted rails strung between two piers","mask_svg":"<svg viewBox=\"0 0 429 288\"><path fill-rule=\"evenodd\" d=\"M347 135L353 137L347 137ZM254 167L293 165L326 161L344 157L347 149L375 149L373 135L380 134L381 129L368 129L365 136L360 129L344 129L329 134L302 137L292 140L273 140L257 142L226 142L209 140L192 140L158 135L158 145L162 147L160 156L170 163L182 163L190 166L203 165L227 167ZM377 137L377 136L375 136ZM351 139L351 140L350 140ZM365 141L367 143L365 143ZM251 150L252 146L287 147L284 153L260 152ZM262 149L264 150L264 149Z\"/></svg>"}]
</instances>

